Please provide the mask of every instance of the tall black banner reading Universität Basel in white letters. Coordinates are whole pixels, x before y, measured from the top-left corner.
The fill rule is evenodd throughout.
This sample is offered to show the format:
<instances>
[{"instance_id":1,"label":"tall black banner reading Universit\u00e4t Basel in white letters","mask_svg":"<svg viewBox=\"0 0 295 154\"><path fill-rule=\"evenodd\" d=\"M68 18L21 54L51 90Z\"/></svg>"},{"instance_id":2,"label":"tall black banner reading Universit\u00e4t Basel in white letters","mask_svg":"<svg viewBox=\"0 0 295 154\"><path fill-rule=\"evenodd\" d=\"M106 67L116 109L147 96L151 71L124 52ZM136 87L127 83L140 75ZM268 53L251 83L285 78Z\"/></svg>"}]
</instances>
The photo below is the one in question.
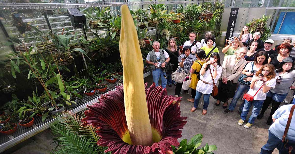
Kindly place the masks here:
<instances>
[{"instance_id":1,"label":"tall black banner reading Universit\u00e4t Basel in white letters","mask_svg":"<svg viewBox=\"0 0 295 154\"><path fill-rule=\"evenodd\" d=\"M237 21L238 11L239 11L239 8L232 8L230 10L230 19L228 20L224 44L226 43L226 40L230 40L232 36L234 35L234 29L235 29L235 25Z\"/></svg>"}]
</instances>

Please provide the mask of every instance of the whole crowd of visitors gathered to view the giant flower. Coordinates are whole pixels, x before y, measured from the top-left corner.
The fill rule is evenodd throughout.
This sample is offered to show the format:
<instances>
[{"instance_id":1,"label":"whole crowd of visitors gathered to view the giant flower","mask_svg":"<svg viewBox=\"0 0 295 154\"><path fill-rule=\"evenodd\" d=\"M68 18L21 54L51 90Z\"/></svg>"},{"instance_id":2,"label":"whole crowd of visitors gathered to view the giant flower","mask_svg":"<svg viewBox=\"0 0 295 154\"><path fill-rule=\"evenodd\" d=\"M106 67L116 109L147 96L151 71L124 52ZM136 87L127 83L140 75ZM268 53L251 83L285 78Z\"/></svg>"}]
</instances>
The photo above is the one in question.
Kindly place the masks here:
<instances>
[{"instance_id":1,"label":"whole crowd of visitors gathered to view the giant flower","mask_svg":"<svg viewBox=\"0 0 295 154\"><path fill-rule=\"evenodd\" d=\"M295 99L286 100L290 89L295 90L295 50L292 51L294 46L291 45L292 39L289 37L273 48L273 40L263 42L259 32L252 36L248 28L244 26L238 37L227 42L228 45L222 49L222 64L221 53L215 47L215 38L210 32L205 34L201 42L196 40L196 33L189 33L190 40L184 42L182 49L176 45L173 38L168 41L165 50L160 49L158 41L154 41L153 50L148 54L146 62L153 68L153 82L156 86L159 78L163 88L166 87L167 81L169 87L176 86L175 97L180 96L181 89L185 94L189 94L188 89L191 88L191 99L187 99L194 103L191 112L199 107L202 95L202 115L207 114L210 96L217 100L216 106L223 102L224 114L234 111L237 101L241 98L243 103L238 109L240 120L237 119L237 124L243 125L247 116L250 116L244 125L245 128L250 128L255 119L261 119L271 107L266 123L273 125L269 129L269 141L261 148L261 153L272 153L273 149L279 149L281 144L274 144L271 140L281 140L281 125L284 125L281 122L284 121L286 126L286 119L281 117L289 115L292 105L284 105L284 109L279 106L281 102L295 104ZM166 70L167 65L173 69ZM190 81L186 82L189 79ZM230 98L232 100L228 106ZM252 113L249 114L252 106ZM288 132L288 138L293 141L294 121L291 121L293 126L289 128L291 133Z\"/></svg>"}]
</instances>

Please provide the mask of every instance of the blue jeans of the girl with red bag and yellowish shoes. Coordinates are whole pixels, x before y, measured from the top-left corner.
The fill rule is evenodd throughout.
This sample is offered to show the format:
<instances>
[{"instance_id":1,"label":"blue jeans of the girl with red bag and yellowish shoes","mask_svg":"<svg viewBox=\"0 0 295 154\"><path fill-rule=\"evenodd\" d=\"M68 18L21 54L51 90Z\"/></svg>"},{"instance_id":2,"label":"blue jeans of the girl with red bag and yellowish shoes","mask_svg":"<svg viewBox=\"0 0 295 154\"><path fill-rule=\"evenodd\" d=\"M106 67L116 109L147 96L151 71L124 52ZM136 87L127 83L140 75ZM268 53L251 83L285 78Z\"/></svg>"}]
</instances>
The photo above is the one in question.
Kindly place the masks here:
<instances>
[{"instance_id":1,"label":"blue jeans of the girl with red bag and yellowish shoes","mask_svg":"<svg viewBox=\"0 0 295 154\"><path fill-rule=\"evenodd\" d=\"M249 112L249 109L250 107L253 105L253 109L252 109L252 114L248 120L248 123L254 123L254 120L256 119L256 117L258 116L261 108L262 108L262 105L263 105L263 101L256 101L256 100L253 100L253 101L247 101L245 99L245 106L243 107L243 111L242 111L242 114L241 114L241 119L242 120L246 120L246 117L247 117L247 114Z\"/></svg>"}]
</instances>

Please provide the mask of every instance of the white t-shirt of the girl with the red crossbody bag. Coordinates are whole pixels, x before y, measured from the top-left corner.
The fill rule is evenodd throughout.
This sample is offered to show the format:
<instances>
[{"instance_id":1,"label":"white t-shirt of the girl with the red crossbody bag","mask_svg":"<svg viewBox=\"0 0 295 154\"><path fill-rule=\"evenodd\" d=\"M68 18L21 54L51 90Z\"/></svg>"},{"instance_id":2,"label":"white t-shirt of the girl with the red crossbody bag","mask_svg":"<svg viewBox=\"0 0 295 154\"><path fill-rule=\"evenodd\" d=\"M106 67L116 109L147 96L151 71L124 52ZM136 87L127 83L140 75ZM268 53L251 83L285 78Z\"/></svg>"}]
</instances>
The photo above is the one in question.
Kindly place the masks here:
<instances>
[{"instance_id":1,"label":"white t-shirt of the girl with the red crossbody bag","mask_svg":"<svg viewBox=\"0 0 295 154\"><path fill-rule=\"evenodd\" d=\"M256 75L253 75L251 83L256 79ZM249 89L249 91L247 92L247 94L250 94L251 96L254 96L255 93L257 92L257 90L262 86L263 82L262 81L256 81L255 82L255 87L254 89ZM267 87L271 87L274 88L276 86L276 79L271 79L266 81L266 86ZM263 87L262 87L263 88ZM266 99L266 93L263 93L262 88L258 91L258 93L253 97L254 100L256 101L263 101Z\"/></svg>"}]
</instances>

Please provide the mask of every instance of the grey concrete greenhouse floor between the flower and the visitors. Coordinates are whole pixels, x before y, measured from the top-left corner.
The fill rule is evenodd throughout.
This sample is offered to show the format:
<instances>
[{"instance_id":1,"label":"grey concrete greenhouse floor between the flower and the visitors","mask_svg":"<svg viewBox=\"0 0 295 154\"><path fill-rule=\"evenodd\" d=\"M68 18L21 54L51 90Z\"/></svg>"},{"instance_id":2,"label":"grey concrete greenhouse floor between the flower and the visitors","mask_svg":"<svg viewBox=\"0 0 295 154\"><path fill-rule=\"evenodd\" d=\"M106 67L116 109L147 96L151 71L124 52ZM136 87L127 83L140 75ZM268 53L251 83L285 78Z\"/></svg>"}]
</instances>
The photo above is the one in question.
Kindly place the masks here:
<instances>
[{"instance_id":1,"label":"grey concrete greenhouse floor between the flower and the visitors","mask_svg":"<svg viewBox=\"0 0 295 154\"><path fill-rule=\"evenodd\" d=\"M222 48L219 48L219 51L221 51L221 49ZM223 61L224 54L221 53L220 56ZM153 77L150 75L144 80L151 85ZM172 87L167 86L168 95L174 95L174 91L174 85ZM233 112L224 114L222 104L220 106L215 106L216 100L210 97L207 114L203 116L201 114L203 106L202 98L200 100L200 108L193 113L190 112L194 104L187 101L188 98L191 98L191 90L189 90L189 93L190 94L187 95L182 91L180 94L180 97L183 97L180 106L181 116L188 118L186 119L187 123L182 130L182 137L179 141L184 138L189 140L194 135L201 133L204 136L201 146L204 146L206 143L209 145L217 145L218 150L214 151L215 154L260 153L260 148L268 139L269 125L266 124L266 120L270 109L266 111L262 119L256 119L253 126L247 129L237 124L240 119L237 108L242 103L241 100L238 101L237 107ZM287 100L291 100L292 97L293 91L290 91ZM229 102L230 101L231 99ZM281 105L285 105L285 103ZM48 130L39 133L30 140L31 141L27 141L25 144L21 143L18 147L14 147L14 150L18 150L14 151L13 154L45 154L50 153L55 146L53 136ZM7 151L6 153L10 152ZM275 149L273 154L277 153L278 150Z\"/></svg>"}]
</instances>

